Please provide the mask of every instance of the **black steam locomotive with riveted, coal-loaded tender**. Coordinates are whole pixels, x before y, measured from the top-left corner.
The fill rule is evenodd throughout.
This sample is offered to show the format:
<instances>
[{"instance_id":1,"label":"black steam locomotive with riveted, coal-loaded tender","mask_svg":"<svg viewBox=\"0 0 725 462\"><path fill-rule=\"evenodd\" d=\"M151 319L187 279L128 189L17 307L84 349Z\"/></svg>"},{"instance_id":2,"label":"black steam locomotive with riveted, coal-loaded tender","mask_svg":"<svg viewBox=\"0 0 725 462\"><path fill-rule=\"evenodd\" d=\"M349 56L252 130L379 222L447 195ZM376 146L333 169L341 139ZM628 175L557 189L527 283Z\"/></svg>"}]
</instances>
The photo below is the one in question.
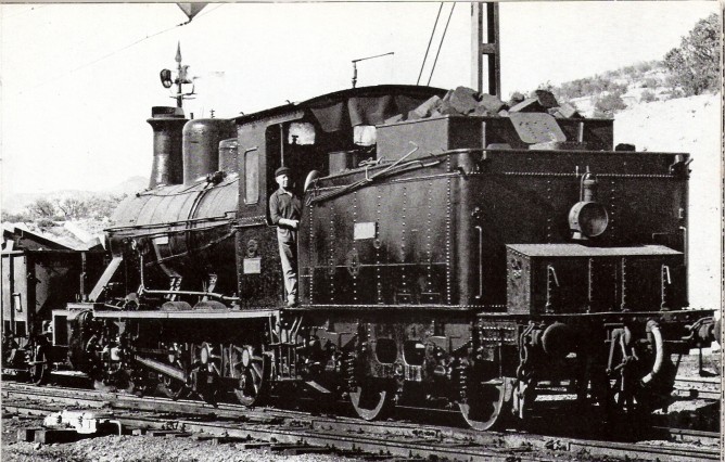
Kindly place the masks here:
<instances>
[{"instance_id":1,"label":"black steam locomotive with riveted, coal-loaded tender","mask_svg":"<svg viewBox=\"0 0 725 462\"><path fill-rule=\"evenodd\" d=\"M685 309L688 155L614 150L612 120L546 98L468 114L457 98L154 108L151 187L119 206L90 301L53 313L59 346L99 384L246 406L304 389L366 420L414 405L487 429L562 384L666 408L672 356L713 334L712 310ZM294 308L267 206L282 165L304 205Z\"/></svg>"}]
</instances>

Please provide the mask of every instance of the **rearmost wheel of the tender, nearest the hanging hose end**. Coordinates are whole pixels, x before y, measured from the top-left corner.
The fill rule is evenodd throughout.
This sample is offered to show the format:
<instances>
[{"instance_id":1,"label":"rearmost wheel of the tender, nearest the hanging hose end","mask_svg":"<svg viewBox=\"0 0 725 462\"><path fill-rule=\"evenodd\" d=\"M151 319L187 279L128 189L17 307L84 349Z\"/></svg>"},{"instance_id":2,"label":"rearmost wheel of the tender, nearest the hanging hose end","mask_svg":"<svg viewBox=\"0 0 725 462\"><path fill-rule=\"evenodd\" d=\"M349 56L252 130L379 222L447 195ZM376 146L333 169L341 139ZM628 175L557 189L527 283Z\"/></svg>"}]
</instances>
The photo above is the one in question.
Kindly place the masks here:
<instances>
[{"instance_id":1,"label":"rearmost wheel of the tender, nearest the hanging hose end","mask_svg":"<svg viewBox=\"0 0 725 462\"><path fill-rule=\"evenodd\" d=\"M478 431L500 426L511 406L512 380L498 377L487 382L470 381L467 398L458 403L466 423Z\"/></svg>"}]
</instances>

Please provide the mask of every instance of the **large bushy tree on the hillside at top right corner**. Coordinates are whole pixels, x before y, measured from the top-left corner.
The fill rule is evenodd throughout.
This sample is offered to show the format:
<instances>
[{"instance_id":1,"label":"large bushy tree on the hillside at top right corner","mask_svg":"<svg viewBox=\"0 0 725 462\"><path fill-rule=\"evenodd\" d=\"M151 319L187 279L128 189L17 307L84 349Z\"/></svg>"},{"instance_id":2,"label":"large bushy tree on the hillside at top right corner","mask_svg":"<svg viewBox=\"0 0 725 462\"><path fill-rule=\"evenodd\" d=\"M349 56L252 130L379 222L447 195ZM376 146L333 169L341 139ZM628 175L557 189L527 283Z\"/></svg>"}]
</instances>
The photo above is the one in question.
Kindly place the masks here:
<instances>
[{"instance_id":1,"label":"large bushy tree on the hillside at top right corner","mask_svg":"<svg viewBox=\"0 0 725 462\"><path fill-rule=\"evenodd\" d=\"M697 22L678 48L664 55L664 65L685 95L701 94L720 86L720 24L716 14Z\"/></svg>"}]
</instances>

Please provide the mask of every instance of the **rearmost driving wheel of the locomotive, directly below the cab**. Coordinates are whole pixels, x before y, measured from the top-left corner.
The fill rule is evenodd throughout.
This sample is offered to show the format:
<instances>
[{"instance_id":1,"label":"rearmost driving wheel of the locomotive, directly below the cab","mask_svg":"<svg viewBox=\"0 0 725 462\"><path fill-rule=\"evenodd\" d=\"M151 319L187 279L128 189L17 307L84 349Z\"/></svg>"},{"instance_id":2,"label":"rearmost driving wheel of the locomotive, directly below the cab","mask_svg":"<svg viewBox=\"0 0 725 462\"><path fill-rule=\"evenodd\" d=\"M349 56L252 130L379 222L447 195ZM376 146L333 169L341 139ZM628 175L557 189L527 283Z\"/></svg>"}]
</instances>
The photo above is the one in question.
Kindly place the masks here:
<instances>
[{"instance_id":1,"label":"rearmost driving wheel of the locomotive, directly below the cab","mask_svg":"<svg viewBox=\"0 0 725 462\"><path fill-rule=\"evenodd\" d=\"M234 386L237 399L244 406L259 406L268 397L271 361L260 347L232 345L230 351L231 374L238 378Z\"/></svg>"}]
</instances>

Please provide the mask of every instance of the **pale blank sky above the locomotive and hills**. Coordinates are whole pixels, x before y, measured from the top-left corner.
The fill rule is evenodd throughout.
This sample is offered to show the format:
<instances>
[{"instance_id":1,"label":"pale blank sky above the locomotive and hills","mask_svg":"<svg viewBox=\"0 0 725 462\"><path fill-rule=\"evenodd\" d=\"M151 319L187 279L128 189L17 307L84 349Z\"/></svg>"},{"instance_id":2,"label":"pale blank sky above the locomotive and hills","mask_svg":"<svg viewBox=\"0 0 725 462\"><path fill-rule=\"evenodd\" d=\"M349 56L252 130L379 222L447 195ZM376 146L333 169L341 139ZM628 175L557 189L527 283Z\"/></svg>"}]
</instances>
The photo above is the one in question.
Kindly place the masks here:
<instances>
[{"instance_id":1,"label":"pale blank sky above the locomotive and hills","mask_svg":"<svg viewBox=\"0 0 725 462\"><path fill-rule=\"evenodd\" d=\"M440 3L0 4L2 195L103 190L150 175L151 106L177 43L198 77L194 117L250 114L358 86L415 84ZM471 86L470 5L453 9L431 85ZM716 1L504 2L503 94L661 60ZM430 64L424 68L427 82Z\"/></svg>"}]
</instances>

